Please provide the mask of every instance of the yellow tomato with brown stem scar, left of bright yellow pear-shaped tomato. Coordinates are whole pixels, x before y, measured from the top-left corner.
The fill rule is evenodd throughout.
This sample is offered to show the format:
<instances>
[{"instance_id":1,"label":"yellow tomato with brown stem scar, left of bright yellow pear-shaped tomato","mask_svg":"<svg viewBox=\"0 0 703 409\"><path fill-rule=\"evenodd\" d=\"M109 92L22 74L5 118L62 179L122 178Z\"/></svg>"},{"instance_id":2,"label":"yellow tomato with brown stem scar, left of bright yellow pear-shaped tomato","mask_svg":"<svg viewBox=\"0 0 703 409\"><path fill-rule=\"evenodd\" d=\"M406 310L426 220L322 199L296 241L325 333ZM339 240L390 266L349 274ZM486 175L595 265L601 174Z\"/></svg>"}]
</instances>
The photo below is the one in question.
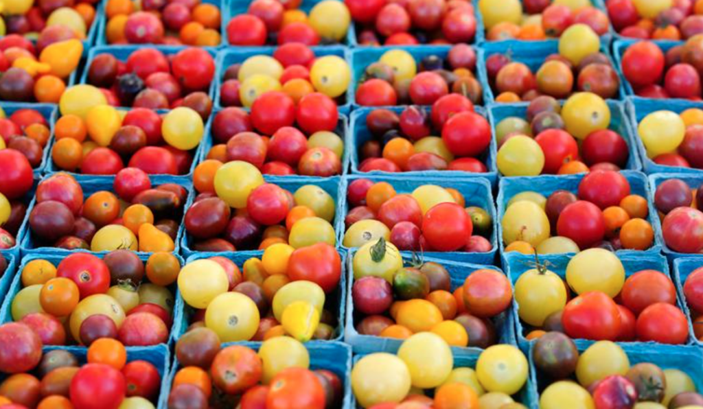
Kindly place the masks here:
<instances>
[{"instance_id":1,"label":"yellow tomato with brown stem scar, left of bright yellow pear-shaped tomato","mask_svg":"<svg viewBox=\"0 0 703 409\"><path fill-rule=\"evenodd\" d=\"M259 328L257 304L244 294L226 290L207 306L205 326L217 334L220 342L248 341Z\"/></svg>"}]
</instances>

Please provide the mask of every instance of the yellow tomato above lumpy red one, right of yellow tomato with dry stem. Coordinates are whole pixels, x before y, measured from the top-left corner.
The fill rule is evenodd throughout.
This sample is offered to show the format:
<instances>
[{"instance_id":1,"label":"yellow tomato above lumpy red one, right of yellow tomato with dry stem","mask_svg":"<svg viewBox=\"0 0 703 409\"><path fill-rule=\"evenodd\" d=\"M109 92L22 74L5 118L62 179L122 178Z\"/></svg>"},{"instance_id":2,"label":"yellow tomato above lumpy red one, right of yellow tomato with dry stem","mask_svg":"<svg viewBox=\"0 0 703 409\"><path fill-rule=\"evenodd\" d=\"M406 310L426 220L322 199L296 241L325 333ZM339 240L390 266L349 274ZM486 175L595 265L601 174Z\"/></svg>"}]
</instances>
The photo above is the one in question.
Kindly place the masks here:
<instances>
[{"instance_id":1,"label":"yellow tomato above lumpy red one, right of yellow tomato with dry stem","mask_svg":"<svg viewBox=\"0 0 703 409\"><path fill-rule=\"evenodd\" d=\"M567 283L576 294L601 291L615 297L625 283L625 268L613 252L586 249L569 260Z\"/></svg>"}]
</instances>

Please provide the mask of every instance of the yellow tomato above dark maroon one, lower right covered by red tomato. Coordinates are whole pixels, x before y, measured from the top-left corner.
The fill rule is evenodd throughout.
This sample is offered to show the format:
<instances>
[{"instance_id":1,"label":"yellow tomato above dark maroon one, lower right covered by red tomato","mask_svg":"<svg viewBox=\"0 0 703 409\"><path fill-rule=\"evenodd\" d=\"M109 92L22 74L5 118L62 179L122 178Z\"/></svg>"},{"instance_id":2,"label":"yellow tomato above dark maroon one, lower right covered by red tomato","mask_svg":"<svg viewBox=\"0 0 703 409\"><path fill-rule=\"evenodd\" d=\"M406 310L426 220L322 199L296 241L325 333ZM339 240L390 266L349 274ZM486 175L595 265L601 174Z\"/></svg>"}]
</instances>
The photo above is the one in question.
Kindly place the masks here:
<instances>
[{"instance_id":1,"label":"yellow tomato above dark maroon one, lower right covered by red tomato","mask_svg":"<svg viewBox=\"0 0 703 409\"><path fill-rule=\"evenodd\" d=\"M215 193L235 209L245 209L249 194L263 184L261 171L249 162L227 162L215 172Z\"/></svg>"}]
</instances>

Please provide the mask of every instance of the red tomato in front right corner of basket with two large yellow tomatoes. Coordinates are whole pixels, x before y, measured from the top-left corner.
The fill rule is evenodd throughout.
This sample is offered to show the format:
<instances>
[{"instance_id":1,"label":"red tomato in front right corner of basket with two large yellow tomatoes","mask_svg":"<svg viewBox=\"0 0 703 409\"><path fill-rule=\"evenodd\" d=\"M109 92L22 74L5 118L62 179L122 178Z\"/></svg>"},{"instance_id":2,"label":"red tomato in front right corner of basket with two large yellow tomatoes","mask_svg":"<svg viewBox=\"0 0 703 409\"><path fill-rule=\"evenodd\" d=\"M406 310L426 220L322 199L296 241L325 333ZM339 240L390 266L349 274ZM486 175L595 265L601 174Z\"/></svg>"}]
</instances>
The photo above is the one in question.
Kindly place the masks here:
<instances>
[{"instance_id":1,"label":"red tomato in front right corner of basket with two large yellow tomatoes","mask_svg":"<svg viewBox=\"0 0 703 409\"><path fill-rule=\"evenodd\" d=\"M685 344L688 341L686 316L671 304L652 304L637 318L637 337L645 342Z\"/></svg>"}]
</instances>

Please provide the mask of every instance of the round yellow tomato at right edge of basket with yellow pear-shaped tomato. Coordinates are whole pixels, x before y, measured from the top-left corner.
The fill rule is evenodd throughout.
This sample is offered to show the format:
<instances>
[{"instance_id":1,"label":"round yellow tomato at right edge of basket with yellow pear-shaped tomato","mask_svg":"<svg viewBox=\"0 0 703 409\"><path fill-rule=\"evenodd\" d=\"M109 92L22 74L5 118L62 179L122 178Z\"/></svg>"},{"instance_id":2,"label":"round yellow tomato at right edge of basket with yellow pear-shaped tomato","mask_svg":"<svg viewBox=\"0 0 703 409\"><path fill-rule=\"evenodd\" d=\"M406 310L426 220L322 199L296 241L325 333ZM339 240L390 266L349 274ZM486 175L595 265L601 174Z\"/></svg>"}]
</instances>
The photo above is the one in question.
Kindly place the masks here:
<instances>
[{"instance_id":1,"label":"round yellow tomato at right edge of basket with yellow pear-shaped tomato","mask_svg":"<svg viewBox=\"0 0 703 409\"><path fill-rule=\"evenodd\" d=\"M170 111L161 124L164 141L180 150L196 148L205 132L202 117L191 108L179 107Z\"/></svg>"}]
</instances>

